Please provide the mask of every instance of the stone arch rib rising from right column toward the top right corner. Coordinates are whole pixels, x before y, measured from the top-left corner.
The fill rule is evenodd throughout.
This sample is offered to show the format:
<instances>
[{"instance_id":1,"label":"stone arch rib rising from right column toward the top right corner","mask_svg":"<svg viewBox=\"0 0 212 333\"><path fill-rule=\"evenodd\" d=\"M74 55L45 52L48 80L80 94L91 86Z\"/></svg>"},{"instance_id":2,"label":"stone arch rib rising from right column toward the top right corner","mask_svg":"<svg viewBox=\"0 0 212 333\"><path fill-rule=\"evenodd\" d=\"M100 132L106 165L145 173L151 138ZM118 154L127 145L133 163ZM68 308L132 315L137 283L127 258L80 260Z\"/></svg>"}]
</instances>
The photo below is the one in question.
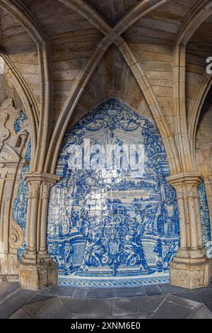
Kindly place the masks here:
<instances>
[{"instance_id":1,"label":"stone arch rib rising from right column toward the top right corner","mask_svg":"<svg viewBox=\"0 0 212 333\"><path fill-rule=\"evenodd\" d=\"M192 132L195 132L195 123L188 124L189 112L193 111L190 106L188 112L186 110L186 48L187 43L194 35L195 31L201 26L206 18L211 16L212 13L212 1L204 0L197 1L191 13L185 18L179 32L175 38L175 54L174 54L174 112L175 112L175 140L179 149L179 158L182 164L182 170L184 171L196 171L196 164L194 157L194 140ZM199 86L196 88L194 96L199 98L201 103L201 94L204 94L202 90L202 83L207 81L207 75L201 78ZM208 82L209 84L209 82ZM202 90L202 91L201 91ZM198 96L199 94L199 96ZM198 102L197 102L198 103ZM196 106L199 108L199 106ZM196 110L195 108L195 110ZM196 111L195 111L196 112ZM198 112L198 111L197 111ZM184 133L184 135L181 135ZM193 141L192 141L193 140Z\"/></svg>"}]
</instances>

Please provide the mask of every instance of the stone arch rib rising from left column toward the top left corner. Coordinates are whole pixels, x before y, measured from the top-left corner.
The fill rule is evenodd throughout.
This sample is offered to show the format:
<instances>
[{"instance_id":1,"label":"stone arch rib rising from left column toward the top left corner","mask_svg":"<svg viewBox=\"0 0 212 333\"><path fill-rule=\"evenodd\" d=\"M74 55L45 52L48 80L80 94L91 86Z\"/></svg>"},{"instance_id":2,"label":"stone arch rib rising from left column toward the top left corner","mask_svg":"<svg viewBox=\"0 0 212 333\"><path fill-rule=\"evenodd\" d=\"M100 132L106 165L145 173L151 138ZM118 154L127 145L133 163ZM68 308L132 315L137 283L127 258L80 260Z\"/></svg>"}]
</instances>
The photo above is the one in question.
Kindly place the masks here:
<instances>
[{"instance_id":1,"label":"stone arch rib rising from left column toward the top left corner","mask_svg":"<svg viewBox=\"0 0 212 333\"><path fill-rule=\"evenodd\" d=\"M47 142L49 139L49 121L50 111L52 108L52 79L49 70L51 57L49 52L48 40L42 31L39 23L28 11L26 6L19 2L14 3L11 0L1 0L0 6L11 16L14 16L21 25L24 26L32 40L37 45L37 53L40 60L40 74L42 77L42 94L41 94L41 110L39 115L39 128L37 128L37 145L34 145L34 155L32 170L40 169L44 166L45 154L47 150ZM35 112L35 110L30 110ZM36 114L30 115L29 119L37 117ZM33 127L33 125L32 125Z\"/></svg>"}]
</instances>

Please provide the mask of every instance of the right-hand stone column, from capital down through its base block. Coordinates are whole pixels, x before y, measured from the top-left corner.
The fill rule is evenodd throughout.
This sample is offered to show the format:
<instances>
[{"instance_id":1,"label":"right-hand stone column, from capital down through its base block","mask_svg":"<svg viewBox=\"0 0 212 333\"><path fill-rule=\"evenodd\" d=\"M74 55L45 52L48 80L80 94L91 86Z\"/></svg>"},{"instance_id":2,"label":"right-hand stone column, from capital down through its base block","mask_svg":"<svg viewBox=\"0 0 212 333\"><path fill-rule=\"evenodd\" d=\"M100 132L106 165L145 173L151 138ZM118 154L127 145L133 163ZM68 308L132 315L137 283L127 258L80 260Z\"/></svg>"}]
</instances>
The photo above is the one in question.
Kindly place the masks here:
<instances>
[{"instance_id":1,"label":"right-hand stone column, from capital down through its base block","mask_svg":"<svg viewBox=\"0 0 212 333\"><path fill-rule=\"evenodd\" d=\"M177 192L180 247L170 263L170 284L184 288L208 286L211 273L202 244L198 187L201 174L186 173L167 177Z\"/></svg>"}]
</instances>

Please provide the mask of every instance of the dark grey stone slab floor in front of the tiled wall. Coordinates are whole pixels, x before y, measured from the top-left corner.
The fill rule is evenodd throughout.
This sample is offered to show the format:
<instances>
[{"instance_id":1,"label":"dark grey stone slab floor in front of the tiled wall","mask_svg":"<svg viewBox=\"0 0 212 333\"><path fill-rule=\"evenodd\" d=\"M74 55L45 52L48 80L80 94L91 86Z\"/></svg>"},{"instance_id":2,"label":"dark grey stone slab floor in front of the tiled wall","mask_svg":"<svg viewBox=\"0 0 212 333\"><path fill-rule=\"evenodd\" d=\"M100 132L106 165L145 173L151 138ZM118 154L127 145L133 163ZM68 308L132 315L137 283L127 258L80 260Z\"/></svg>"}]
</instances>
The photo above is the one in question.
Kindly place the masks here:
<instances>
[{"instance_id":1,"label":"dark grey stone slab floor in front of the tiled wall","mask_svg":"<svg viewBox=\"0 0 212 333\"><path fill-rule=\"evenodd\" d=\"M187 290L168 284L136 288L22 290L0 284L0 318L212 319L212 285Z\"/></svg>"}]
</instances>

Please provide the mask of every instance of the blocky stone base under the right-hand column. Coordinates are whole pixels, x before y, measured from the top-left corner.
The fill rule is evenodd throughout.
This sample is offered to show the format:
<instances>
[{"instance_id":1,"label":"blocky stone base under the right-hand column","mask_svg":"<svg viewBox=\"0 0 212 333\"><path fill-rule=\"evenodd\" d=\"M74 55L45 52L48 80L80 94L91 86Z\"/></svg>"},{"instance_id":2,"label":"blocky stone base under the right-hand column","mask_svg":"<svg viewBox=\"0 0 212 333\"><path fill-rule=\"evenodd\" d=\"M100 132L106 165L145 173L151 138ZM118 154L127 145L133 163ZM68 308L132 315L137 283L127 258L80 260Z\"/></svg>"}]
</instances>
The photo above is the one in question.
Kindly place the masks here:
<instances>
[{"instance_id":1,"label":"blocky stone base under the right-hand column","mask_svg":"<svg viewBox=\"0 0 212 333\"><path fill-rule=\"evenodd\" d=\"M186 259L175 256L170 263L170 284L183 288L206 287L211 280L209 259Z\"/></svg>"}]
</instances>

